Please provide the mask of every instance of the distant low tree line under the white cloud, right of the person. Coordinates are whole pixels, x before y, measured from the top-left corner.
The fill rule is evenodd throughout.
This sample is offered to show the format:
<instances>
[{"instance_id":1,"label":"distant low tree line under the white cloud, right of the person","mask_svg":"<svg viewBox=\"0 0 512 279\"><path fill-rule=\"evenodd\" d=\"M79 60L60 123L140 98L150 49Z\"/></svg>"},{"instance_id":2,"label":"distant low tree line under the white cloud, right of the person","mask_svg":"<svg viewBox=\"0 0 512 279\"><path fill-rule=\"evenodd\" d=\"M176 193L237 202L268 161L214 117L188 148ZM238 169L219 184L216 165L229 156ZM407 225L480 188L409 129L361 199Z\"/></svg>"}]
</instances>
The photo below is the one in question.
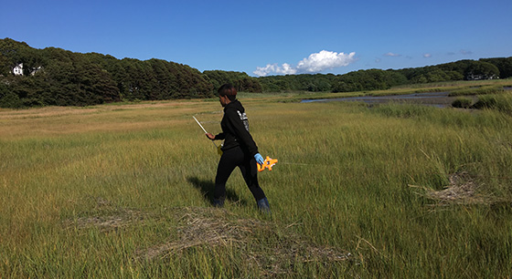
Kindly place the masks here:
<instances>
[{"instance_id":1,"label":"distant low tree line under the white cloud, right of the person","mask_svg":"<svg viewBox=\"0 0 512 279\"><path fill-rule=\"evenodd\" d=\"M512 77L512 57L460 60L429 67L367 69L344 75L315 74L258 78L263 92L330 91L353 92L389 89L394 86Z\"/></svg>"}]
</instances>

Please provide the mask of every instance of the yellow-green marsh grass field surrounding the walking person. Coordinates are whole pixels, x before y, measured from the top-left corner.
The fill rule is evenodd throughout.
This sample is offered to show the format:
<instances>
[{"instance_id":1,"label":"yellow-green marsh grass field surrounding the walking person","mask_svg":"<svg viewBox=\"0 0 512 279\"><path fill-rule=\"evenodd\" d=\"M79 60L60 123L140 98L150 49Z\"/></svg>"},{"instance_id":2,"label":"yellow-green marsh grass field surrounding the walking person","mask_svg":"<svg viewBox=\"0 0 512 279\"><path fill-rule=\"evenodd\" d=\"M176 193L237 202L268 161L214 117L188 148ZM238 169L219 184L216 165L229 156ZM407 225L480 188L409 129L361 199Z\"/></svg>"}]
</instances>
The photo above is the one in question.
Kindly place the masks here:
<instances>
[{"instance_id":1,"label":"yellow-green marsh grass field surrounding the walking person","mask_svg":"<svg viewBox=\"0 0 512 279\"><path fill-rule=\"evenodd\" d=\"M1 277L512 275L509 115L273 100L242 98L272 216L238 171L211 207L217 101L0 110Z\"/></svg>"}]
</instances>

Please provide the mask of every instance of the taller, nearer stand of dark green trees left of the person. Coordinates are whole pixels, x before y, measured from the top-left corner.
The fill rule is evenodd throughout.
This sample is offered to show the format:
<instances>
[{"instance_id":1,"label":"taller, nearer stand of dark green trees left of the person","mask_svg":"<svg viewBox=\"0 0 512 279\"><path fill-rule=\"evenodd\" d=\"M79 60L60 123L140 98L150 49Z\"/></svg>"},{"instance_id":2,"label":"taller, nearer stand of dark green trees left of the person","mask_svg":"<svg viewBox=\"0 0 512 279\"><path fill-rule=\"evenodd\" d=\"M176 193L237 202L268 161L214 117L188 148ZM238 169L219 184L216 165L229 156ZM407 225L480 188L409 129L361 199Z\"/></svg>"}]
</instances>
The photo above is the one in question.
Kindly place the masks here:
<instances>
[{"instance_id":1,"label":"taller, nearer stand of dark green trees left of the person","mask_svg":"<svg viewBox=\"0 0 512 279\"><path fill-rule=\"evenodd\" d=\"M23 75L14 76L21 64ZM35 49L8 38L0 40L0 75L0 106L11 108L213 96L212 85L186 65Z\"/></svg>"}]
</instances>

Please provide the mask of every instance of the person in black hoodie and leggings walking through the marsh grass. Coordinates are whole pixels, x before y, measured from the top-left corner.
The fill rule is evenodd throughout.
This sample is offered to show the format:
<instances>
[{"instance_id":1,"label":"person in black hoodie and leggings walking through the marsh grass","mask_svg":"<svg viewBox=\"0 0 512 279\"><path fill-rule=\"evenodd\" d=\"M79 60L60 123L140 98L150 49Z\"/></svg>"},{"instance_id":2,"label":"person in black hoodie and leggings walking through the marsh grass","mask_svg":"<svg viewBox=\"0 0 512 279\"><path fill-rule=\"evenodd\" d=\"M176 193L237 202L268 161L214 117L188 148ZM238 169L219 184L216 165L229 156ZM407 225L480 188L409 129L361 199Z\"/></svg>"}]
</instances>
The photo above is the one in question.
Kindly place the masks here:
<instances>
[{"instance_id":1,"label":"person in black hoodie and leggings walking through the marsh grass","mask_svg":"<svg viewBox=\"0 0 512 279\"><path fill-rule=\"evenodd\" d=\"M263 158L249 132L249 120L237 99L237 90L232 85L225 84L218 92L220 104L224 107L224 116L220 122L222 132L215 136L211 133L206 134L209 140L224 140L215 177L213 204L217 207L224 205L226 182L231 172L239 167L260 211L270 213L269 201L258 183L256 163L263 164Z\"/></svg>"}]
</instances>

